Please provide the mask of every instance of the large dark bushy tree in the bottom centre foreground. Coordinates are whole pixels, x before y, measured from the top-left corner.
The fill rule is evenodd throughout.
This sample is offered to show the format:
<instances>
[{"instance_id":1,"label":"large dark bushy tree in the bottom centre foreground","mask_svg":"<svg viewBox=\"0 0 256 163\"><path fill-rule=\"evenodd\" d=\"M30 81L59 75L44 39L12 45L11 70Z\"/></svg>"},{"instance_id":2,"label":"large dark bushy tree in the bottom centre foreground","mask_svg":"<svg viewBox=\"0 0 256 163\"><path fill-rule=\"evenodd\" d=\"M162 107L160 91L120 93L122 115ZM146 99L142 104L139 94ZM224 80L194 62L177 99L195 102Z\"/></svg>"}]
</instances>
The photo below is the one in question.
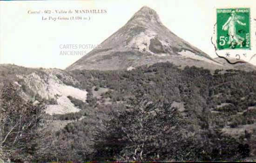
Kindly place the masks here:
<instances>
[{"instance_id":1,"label":"large dark bushy tree in the bottom centre foreground","mask_svg":"<svg viewBox=\"0 0 256 163\"><path fill-rule=\"evenodd\" d=\"M141 100L131 111L112 114L105 130L97 133L94 157L97 161L148 161L189 155L189 151L176 152L181 147L181 130L185 124L170 104Z\"/></svg>"}]
</instances>

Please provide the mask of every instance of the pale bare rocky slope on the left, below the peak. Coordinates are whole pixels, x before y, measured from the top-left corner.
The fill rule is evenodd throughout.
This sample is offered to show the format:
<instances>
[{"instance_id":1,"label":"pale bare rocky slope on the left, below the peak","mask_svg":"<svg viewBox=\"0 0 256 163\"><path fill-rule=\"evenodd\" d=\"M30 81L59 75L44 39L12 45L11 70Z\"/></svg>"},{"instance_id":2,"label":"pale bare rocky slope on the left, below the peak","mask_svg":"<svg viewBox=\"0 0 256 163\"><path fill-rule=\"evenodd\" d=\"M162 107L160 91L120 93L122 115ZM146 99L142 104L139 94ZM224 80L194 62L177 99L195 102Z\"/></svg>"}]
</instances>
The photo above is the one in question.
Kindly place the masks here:
<instances>
[{"instance_id":1,"label":"pale bare rocky slope on the left, below the peak","mask_svg":"<svg viewBox=\"0 0 256 163\"><path fill-rule=\"evenodd\" d=\"M78 81L60 69L31 69L10 64L0 64L0 90L12 83L25 101L46 104L46 113L65 114L79 112L69 96L87 99L87 91L75 88Z\"/></svg>"}]
</instances>

